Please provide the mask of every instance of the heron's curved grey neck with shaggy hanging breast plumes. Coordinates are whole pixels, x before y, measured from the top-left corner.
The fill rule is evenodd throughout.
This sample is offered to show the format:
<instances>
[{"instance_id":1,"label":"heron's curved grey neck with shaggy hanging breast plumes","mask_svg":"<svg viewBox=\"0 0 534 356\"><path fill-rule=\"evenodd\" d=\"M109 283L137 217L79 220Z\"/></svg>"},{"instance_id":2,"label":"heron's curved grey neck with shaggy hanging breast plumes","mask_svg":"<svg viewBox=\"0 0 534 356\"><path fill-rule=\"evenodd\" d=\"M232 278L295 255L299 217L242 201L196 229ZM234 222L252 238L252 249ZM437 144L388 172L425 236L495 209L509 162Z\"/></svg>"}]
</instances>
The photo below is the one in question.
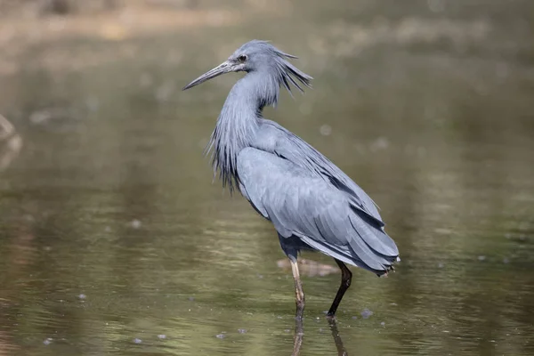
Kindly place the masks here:
<instances>
[{"instance_id":1,"label":"heron's curved grey neck with shaggy hanging breast plumes","mask_svg":"<svg viewBox=\"0 0 534 356\"><path fill-rule=\"evenodd\" d=\"M231 89L217 120L208 146L212 152L214 174L219 174L223 186L232 191L239 182L237 159L239 152L251 146L263 120L265 104L273 101L273 88L269 80L261 86L263 77L258 72L248 73ZM278 87L279 88L279 87ZM271 94L271 96L268 96ZM278 98L278 93L276 93Z\"/></svg>"}]
</instances>

